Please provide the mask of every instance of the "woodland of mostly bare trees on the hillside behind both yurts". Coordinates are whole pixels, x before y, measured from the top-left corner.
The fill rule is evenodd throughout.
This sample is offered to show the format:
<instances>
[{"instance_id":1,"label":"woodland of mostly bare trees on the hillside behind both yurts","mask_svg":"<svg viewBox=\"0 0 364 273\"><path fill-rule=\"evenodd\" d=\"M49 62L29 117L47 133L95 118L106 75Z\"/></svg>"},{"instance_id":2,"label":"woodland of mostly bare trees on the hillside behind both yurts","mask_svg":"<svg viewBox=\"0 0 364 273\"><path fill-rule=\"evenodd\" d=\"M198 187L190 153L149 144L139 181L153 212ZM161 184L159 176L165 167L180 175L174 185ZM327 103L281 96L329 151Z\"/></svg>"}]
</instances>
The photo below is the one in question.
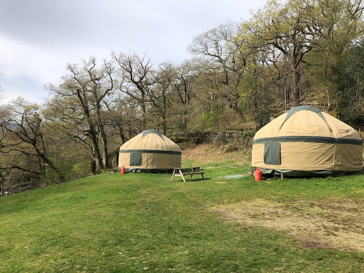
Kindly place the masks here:
<instances>
[{"instance_id":1,"label":"woodland of mostly bare trees on the hillside behind both yurts","mask_svg":"<svg viewBox=\"0 0 364 273\"><path fill-rule=\"evenodd\" d=\"M299 105L359 129L363 10L361 0L272 0L195 36L181 64L132 51L69 63L45 84L44 104L0 106L0 184L41 187L115 168L119 147L144 129L257 130Z\"/></svg>"}]
</instances>

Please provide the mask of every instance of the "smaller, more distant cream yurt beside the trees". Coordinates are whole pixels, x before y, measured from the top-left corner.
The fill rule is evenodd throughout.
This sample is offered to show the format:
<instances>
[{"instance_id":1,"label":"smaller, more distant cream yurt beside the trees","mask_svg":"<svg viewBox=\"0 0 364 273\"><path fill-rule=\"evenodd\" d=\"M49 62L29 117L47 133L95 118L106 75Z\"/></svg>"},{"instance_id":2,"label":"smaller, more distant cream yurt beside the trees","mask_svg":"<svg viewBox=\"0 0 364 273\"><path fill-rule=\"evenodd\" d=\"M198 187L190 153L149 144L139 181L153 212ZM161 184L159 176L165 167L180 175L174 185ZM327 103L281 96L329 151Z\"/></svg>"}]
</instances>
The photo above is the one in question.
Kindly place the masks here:
<instances>
[{"instance_id":1,"label":"smaller, more distant cream yurt beside the trees","mask_svg":"<svg viewBox=\"0 0 364 273\"><path fill-rule=\"evenodd\" d=\"M125 142L118 167L127 171L167 172L181 166L178 145L157 130L145 130Z\"/></svg>"}]
</instances>

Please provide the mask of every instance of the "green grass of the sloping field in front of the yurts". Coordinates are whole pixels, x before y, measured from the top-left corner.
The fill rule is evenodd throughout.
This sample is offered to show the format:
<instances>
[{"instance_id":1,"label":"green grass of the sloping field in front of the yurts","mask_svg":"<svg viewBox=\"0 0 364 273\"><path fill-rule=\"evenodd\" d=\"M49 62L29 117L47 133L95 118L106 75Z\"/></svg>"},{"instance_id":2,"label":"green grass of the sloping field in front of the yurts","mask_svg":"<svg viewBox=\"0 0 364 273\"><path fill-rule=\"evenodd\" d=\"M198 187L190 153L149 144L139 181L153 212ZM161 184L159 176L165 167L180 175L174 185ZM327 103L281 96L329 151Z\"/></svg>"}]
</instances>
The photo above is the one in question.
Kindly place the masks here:
<instances>
[{"instance_id":1,"label":"green grass of the sloping field in front of the yurts","mask_svg":"<svg viewBox=\"0 0 364 273\"><path fill-rule=\"evenodd\" d=\"M364 174L255 182L224 177L248 165L203 168L205 180L186 183L170 174L101 174L0 198L0 271L364 271L362 251L305 249L288 232L213 209L259 198L362 204Z\"/></svg>"}]
</instances>

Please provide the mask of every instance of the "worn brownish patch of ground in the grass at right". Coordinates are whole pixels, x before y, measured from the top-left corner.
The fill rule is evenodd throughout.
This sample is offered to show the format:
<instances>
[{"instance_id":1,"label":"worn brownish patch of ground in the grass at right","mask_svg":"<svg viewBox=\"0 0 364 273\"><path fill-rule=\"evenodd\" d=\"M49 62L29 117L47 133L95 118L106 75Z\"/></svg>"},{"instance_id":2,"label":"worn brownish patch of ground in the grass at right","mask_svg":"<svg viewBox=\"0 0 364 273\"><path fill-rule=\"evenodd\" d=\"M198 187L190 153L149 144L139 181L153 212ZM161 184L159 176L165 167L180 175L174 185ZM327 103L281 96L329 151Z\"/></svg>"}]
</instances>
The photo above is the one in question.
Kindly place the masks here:
<instances>
[{"instance_id":1,"label":"worn brownish patch of ground in the grass at right","mask_svg":"<svg viewBox=\"0 0 364 273\"><path fill-rule=\"evenodd\" d=\"M349 199L275 202L256 199L212 209L226 220L285 231L304 249L364 251L364 207Z\"/></svg>"}]
</instances>

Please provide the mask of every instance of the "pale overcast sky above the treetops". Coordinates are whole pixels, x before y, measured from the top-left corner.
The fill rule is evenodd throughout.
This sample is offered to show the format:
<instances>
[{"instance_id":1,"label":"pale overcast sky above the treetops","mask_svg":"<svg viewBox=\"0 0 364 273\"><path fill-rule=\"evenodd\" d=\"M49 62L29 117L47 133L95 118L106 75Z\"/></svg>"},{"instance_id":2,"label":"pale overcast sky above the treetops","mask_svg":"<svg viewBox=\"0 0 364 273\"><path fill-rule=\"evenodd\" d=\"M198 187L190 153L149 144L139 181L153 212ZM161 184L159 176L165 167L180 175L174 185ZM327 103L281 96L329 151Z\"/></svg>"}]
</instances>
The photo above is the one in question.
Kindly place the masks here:
<instances>
[{"instance_id":1,"label":"pale overcast sky above the treetops","mask_svg":"<svg viewBox=\"0 0 364 273\"><path fill-rule=\"evenodd\" d=\"M193 37L250 18L266 0L0 0L2 103L41 104L67 63L110 52L146 54L158 65L192 58Z\"/></svg>"}]
</instances>

